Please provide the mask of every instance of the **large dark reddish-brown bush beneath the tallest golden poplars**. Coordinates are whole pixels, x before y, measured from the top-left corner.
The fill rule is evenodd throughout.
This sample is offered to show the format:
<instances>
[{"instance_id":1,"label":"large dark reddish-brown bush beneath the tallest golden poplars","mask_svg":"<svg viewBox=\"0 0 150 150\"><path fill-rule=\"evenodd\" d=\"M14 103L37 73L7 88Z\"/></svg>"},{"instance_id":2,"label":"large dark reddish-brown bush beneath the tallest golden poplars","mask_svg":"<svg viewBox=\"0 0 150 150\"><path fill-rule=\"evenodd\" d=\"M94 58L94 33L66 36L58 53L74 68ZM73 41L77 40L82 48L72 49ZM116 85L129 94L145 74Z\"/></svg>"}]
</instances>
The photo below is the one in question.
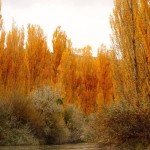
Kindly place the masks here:
<instances>
[{"instance_id":1,"label":"large dark reddish-brown bush beneath the tallest golden poplars","mask_svg":"<svg viewBox=\"0 0 150 150\"><path fill-rule=\"evenodd\" d=\"M144 149L150 144L150 104L139 107L127 103L106 106L95 117L91 127L94 125L94 135L102 145Z\"/></svg>"}]
</instances>

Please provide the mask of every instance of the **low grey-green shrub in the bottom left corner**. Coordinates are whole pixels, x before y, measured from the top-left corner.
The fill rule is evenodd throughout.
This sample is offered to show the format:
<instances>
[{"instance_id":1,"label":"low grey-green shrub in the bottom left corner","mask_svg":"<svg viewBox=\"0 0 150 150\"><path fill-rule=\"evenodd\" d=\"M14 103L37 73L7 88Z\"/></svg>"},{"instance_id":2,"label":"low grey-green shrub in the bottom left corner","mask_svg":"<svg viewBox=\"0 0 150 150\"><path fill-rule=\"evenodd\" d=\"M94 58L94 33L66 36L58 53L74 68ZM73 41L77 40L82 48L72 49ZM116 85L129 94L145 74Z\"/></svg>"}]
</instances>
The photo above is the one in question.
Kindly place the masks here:
<instances>
[{"instance_id":1,"label":"low grey-green shrub in the bottom left corner","mask_svg":"<svg viewBox=\"0 0 150 150\"><path fill-rule=\"evenodd\" d=\"M0 145L38 144L29 127L18 123L12 108L3 100L0 100L0 120Z\"/></svg>"}]
</instances>

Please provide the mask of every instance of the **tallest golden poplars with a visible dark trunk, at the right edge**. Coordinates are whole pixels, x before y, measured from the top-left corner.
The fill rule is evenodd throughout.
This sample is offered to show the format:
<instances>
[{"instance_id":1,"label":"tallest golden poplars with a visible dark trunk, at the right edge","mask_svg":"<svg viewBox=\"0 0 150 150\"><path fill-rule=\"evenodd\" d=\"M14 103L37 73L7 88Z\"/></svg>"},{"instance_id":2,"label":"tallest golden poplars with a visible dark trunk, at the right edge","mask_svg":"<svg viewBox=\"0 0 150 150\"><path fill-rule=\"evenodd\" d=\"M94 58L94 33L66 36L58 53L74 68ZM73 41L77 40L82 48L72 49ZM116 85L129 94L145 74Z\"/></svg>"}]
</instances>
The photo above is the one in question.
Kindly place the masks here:
<instances>
[{"instance_id":1,"label":"tallest golden poplars with a visible dark trunk, at the right edge","mask_svg":"<svg viewBox=\"0 0 150 150\"><path fill-rule=\"evenodd\" d=\"M149 0L115 0L113 45L114 78L119 98L139 105L150 100Z\"/></svg>"}]
</instances>

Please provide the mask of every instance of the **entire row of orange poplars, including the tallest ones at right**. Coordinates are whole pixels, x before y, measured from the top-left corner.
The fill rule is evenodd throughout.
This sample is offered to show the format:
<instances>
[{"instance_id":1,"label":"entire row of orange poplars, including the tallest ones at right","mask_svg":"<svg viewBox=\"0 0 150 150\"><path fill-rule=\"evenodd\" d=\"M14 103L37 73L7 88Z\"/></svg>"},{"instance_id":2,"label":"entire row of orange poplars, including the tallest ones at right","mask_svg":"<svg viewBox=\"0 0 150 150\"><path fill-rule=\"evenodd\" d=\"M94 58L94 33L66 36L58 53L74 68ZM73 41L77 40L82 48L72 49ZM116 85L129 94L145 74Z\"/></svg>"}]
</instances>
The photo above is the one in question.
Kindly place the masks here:
<instances>
[{"instance_id":1,"label":"entire row of orange poplars, including the tallest ones at right","mask_svg":"<svg viewBox=\"0 0 150 150\"><path fill-rule=\"evenodd\" d=\"M1 21L0 90L19 89L26 94L39 86L60 89L64 105L74 103L85 112L118 99L139 104L150 100L150 4L148 0L115 0L111 17L113 50L104 45L92 56L92 48L72 47L57 27L53 52L38 25L24 28L15 23L8 33Z\"/></svg>"}]
</instances>

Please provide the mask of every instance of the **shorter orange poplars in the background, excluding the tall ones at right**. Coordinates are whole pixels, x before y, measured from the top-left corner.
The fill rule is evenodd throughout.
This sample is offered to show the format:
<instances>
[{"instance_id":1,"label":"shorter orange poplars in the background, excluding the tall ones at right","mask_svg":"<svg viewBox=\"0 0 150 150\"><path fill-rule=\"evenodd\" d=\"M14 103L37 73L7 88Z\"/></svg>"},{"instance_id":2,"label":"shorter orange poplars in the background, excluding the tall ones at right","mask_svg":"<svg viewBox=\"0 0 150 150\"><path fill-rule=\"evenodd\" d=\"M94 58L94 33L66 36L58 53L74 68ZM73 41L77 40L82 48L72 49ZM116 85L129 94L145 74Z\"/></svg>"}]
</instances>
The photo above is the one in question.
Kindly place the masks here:
<instances>
[{"instance_id":1,"label":"shorter orange poplars in the background, excluding the tall ones at right","mask_svg":"<svg viewBox=\"0 0 150 150\"><path fill-rule=\"evenodd\" d=\"M28 25L24 29L13 24L9 33L0 37L0 89L14 89L26 94L39 86L59 88L64 105L76 104L86 113L94 112L112 99L110 52L99 50L93 57L91 47L74 49L71 40L58 27L53 34L50 52L43 30Z\"/></svg>"}]
</instances>

